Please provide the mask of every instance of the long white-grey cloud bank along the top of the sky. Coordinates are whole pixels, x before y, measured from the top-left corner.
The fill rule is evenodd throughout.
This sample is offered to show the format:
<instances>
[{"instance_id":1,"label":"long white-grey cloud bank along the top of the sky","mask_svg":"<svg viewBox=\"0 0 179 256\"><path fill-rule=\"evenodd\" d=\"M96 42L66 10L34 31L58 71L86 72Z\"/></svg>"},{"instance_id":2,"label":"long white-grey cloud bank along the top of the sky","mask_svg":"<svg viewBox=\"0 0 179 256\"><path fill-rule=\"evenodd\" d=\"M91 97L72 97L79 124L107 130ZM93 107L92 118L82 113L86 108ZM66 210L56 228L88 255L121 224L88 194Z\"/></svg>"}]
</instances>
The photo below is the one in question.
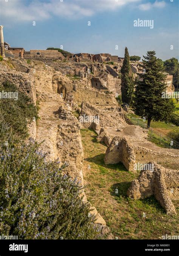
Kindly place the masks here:
<instances>
[{"instance_id":1,"label":"long white-grey cloud bank along the top of the sky","mask_svg":"<svg viewBox=\"0 0 179 256\"><path fill-rule=\"evenodd\" d=\"M60 16L67 19L90 17L103 11L116 9L141 0L0 0L1 20L35 21Z\"/></svg>"}]
</instances>

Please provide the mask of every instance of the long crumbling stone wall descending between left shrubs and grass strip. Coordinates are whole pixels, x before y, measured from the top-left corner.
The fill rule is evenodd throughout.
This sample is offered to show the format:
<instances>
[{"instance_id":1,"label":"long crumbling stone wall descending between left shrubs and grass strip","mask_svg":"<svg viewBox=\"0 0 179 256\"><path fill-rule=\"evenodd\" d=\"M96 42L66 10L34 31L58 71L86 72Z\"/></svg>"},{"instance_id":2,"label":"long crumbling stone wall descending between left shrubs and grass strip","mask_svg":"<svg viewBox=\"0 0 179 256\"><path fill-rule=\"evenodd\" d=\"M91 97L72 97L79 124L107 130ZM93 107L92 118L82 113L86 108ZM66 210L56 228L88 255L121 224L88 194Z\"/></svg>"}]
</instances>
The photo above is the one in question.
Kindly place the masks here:
<instances>
[{"instance_id":1,"label":"long crumbling stone wall descending between left shrubs and grass strip","mask_svg":"<svg viewBox=\"0 0 179 256\"><path fill-rule=\"evenodd\" d=\"M36 122L29 124L30 137L42 142L41 149L46 152L47 160L58 158L60 163L65 163L64 172L73 179L76 177L83 186L81 124L73 115L73 111L86 96L94 101L97 91L90 86L84 90L83 80L74 83L60 71L36 60L28 64L24 59L9 58L8 62L5 60L0 63L0 77L0 84L5 81L13 83L31 97L34 104L36 100L39 101L40 119L38 126ZM99 92L100 97L102 102L105 94ZM111 95L108 101L114 101ZM83 201L87 202L84 192L82 196ZM113 239L105 220L94 206L91 206L91 214L96 215L95 223L102 226L102 233L109 233L108 239Z\"/></svg>"}]
</instances>

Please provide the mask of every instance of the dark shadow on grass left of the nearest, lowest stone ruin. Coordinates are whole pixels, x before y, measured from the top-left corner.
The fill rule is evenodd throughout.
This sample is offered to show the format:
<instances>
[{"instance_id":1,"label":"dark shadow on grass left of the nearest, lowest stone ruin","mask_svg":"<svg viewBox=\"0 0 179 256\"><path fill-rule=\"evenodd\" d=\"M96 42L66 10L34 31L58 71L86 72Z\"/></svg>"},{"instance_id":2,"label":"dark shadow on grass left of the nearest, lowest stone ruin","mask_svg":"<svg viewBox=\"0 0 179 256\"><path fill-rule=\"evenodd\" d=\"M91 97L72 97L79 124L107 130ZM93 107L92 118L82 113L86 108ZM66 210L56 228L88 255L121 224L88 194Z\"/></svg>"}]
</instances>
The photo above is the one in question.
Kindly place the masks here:
<instances>
[{"instance_id":1,"label":"dark shadow on grass left of the nearest, lowest stone ruin","mask_svg":"<svg viewBox=\"0 0 179 256\"><path fill-rule=\"evenodd\" d=\"M125 181L125 182L120 182L120 183L115 183L111 186L110 188L110 193L112 196L117 196L117 197L124 197L127 198L127 190L130 187L131 182Z\"/></svg>"}]
</instances>

